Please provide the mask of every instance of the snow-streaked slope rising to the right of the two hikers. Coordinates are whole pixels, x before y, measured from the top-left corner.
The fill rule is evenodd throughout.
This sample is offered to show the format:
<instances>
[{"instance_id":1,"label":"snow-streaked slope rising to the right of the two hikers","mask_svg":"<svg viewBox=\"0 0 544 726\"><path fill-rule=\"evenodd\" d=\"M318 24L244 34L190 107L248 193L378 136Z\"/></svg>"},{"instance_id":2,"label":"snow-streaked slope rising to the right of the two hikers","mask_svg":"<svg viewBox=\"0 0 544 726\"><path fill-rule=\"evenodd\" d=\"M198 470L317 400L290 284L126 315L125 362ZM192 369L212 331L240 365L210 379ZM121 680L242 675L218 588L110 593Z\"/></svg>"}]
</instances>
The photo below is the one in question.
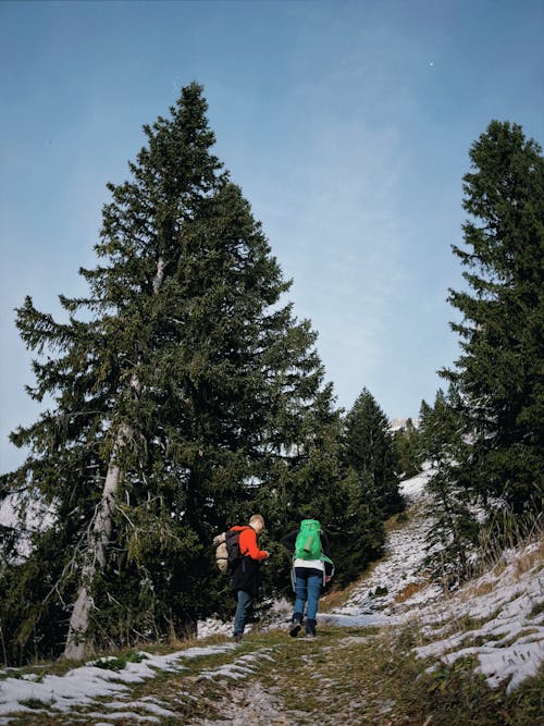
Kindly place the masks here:
<instances>
[{"instance_id":1,"label":"snow-streaked slope rising to the right of the two hikers","mask_svg":"<svg viewBox=\"0 0 544 726\"><path fill-rule=\"evenodd\" d=\"M390 532L385 557L326 619L417 626L430 641L416 649L418 656L455 663L472 655L475 673L492 688L505 685L512 691L544 661L544 541L504 551L489 571L445 598L421 571L425 478L405 483L411 501L408 521Z\"/></svg>"}]
</instances>

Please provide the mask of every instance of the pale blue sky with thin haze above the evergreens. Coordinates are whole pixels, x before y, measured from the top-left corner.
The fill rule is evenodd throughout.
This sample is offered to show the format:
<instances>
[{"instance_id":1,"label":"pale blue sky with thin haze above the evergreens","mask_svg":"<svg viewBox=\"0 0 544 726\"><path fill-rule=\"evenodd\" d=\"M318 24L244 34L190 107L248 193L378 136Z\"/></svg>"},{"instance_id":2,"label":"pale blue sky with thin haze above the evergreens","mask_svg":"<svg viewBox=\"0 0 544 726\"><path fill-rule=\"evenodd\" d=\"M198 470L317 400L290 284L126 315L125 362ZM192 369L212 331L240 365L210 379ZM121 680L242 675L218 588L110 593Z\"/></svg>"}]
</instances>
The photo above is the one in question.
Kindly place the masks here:
<instances>
[{"instance_id":1,"label":"pale blue sky with thin haze above the evergreens","mask_svg":"<svg viewBox=\"0 0 544 726\"><path fill-rule=\"evenodd\" d=\"M458 354L470 145L544 143L543 28L532 0L0 2L0 472L38 415L13 308L85 292L106 183L194 79L338 405L417 416Z\"/></svg>"}]
</instances>

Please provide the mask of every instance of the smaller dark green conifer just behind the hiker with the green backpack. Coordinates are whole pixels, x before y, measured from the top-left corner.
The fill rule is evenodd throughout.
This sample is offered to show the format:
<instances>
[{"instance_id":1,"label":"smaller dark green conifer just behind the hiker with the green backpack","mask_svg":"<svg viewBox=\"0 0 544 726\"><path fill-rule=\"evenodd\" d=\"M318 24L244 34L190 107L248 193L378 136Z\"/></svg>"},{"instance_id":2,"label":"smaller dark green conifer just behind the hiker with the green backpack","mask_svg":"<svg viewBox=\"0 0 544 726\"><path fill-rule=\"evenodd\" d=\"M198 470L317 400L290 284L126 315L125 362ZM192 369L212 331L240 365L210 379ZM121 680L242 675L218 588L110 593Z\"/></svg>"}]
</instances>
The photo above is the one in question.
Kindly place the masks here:
<instances>
[{"instance_id":1,"label":"smaller dark green conifer just behind the hiker with the green backpack","mask_svg":"<svg viewBox=\"0 0 544 726\"><path fill-rule=\"evenodd\" d=\"M329 418L324 431L321 441L313 440L321 444L321 456L314 452L308 460L293 490L297 500L283 507L292 517L284 532L298 529L301 519L319 519L331 542L335 583L344 586L381 555L384 519L404 502L388 421L368 391L344 420Z\"/></svg>"}]
</instances>

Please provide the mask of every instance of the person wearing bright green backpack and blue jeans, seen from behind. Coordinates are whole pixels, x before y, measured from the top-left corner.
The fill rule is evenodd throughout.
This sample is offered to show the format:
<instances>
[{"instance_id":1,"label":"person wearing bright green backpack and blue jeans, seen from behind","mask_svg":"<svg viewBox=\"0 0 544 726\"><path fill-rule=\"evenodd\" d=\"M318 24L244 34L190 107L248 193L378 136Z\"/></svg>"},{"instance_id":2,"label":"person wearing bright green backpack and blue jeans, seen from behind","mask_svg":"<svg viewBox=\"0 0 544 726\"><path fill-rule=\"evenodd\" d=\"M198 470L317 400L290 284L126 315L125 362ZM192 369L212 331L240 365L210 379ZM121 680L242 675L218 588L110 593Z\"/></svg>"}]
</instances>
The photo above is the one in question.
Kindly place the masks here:
<instances>
[{"instance_id":1,"label":"person wearing bright green backpack and blue jeans, seen from behind","mask_svg":"<svg viewBox=\"0 0 544 726\"><path fill-rule=\"evenodd\" d=\"M306 635L316 637L319 595L334 573L329 538L317 519L302 519L299 529L280 541L293 550L295 606L289 635L296 638L300 632L306 606Z\"/></svg>"}]
</instances>

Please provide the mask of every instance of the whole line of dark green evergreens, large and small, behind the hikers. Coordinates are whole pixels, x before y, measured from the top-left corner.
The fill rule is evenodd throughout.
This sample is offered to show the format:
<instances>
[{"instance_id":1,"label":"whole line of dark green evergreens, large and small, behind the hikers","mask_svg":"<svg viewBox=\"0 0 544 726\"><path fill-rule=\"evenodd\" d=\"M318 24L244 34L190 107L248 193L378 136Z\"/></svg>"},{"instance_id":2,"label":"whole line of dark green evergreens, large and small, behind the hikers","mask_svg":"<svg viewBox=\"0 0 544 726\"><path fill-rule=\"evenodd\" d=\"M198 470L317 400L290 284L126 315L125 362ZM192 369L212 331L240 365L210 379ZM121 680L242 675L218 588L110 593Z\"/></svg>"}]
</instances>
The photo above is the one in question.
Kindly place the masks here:
<instances>
[{"instance_id":1,"label":"whole line of dark green evergreens, large and small, behind the hikers","mask_svg":"<svg viewBox=\"0 0 544 726\"><path fill-rule=\"evenodd\" d=\"M514 247L500 253L500 270L482 257L489 283L467 276L474 298L452 293L465 315L456 328L463 356L445 372L455 403L453 393L440 394L452 424L437 422L435 402L422 405L419 430L408 423L394 433L366 389L348 413L336 407L317 334L285 302L290 283L212 152L206 111L201 87L191 84L168 118L144 126L147 144L129 163L129 181L108 185L97 266L79 271L88 295L60 296L65 321L39 311L30 297L17 310L17 328L36 355L28 393L50 404L12 433L29 453L0 479L2 496L18 506L17 525L1 531L7 663L83 657L92 648L194 631L213 613L231 615L211 541L254 512L265 517L273 554L263 568L268 596L288 587L288 556L276 542L307 516L326 528L337 581L348 582L380 556L383 522L404 507L399 480L424 459L436 462L433 487L444 510L459 491L516 512L540 506L536 145L519 127L496 123L480 141L495 149L486 173L496 174L481 205L467 201L467 209L475 217L487 211L492 189L500 204L493 223L467 225L474 249L456 254L473 264L485 244L497 250L514 236ZM467 176L467 189L480 189L479 173ZM496 216L505 213L506 194L520 217L512 211L503 230ZM527 235L517 234L519 220ZM518 264L523 246L532 251ZM523 294L514 299L518 280ZM498 353L489 356L507 343L517 353L515 360L505 354L503 397L494 401ZM482 370L472 365L479 355ZM436 529L448 547L458 521L444 519Z\"/></svg>"}]
</instances>

